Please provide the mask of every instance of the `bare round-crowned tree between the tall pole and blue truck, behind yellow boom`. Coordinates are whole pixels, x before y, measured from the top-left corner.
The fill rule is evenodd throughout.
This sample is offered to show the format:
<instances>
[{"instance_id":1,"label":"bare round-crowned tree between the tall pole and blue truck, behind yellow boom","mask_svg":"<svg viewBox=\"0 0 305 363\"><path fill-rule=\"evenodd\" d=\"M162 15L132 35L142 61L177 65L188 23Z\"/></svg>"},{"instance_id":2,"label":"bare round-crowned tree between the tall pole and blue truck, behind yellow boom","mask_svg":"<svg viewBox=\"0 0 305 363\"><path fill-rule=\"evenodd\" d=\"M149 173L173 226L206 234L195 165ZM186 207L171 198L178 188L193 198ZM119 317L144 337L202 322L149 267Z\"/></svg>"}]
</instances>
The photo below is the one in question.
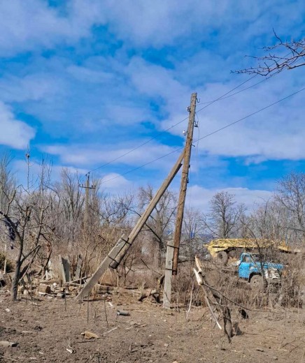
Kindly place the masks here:
<instances>
[{"instance_id":1,"label":"bare round-crowned tree between the tall pole and blue truck, behind yellow boom","mask_svg":"<svg viewBox=\"0 0 305 363\"><path fill-rule=\"evenodd\" d=\"M204 216L204 224L213 237L235 237L245 211L246 207L242 203L236 203L234 194L221 191L211 199L210 213Z\"/></svg>"}]
</instances>

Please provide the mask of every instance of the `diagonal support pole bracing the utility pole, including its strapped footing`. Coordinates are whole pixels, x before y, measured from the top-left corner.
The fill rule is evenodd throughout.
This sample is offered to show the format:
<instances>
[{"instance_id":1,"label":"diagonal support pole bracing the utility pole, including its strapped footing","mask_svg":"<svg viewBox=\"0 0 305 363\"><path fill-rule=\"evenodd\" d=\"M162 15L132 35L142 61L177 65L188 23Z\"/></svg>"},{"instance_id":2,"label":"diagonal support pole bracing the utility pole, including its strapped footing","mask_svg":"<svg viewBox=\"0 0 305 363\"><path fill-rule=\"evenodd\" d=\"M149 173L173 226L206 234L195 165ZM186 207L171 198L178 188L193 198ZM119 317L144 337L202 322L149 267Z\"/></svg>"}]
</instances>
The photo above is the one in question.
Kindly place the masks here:
<instances>
[{"instance_id":1,"label":"diagonal support pole bracing the utility pole, including its strapped footing","mask_svg":"<svg viewBox=\"0 0 305 363\"><path fill-rule=\"evenodd\" d=\"M180 154L178 160L176 161L175 165L173 165L173 168L171 169L171 172L169 172L169 175L166 177L164 182L162 183L162 186L160 186L159 190L157 191L156 195L152 200L150 200L150 203L148 207L146 208L146 211L141 215L139 218L139 221L134 226L132 232L130 232L127 239L125 239L123 236L118 240L117 244L111 249L111 251L108 253L106 258L101 262L101 265L99 265L99 268L96 272L92 275L91 279L85 284L83 290L79 292L76 299L81 300L83 297L86 297L89 295L90 291L94 287L94 285L99 281L101 276L103 276L104 272L106 272L106 269L108 267L112 267L113 269L116 269L118 265L120 265L120 262L126 255L127 251L129 250L130 246L134 243L134 240L139 235L139 232L143 228L143 225L147 222L150 214L152 213L153 209L155 209L155 206L161 199L162 195L166 191L166 189L169 187L169 184L171 184L171 181L177 174L178 170L181 168L182 161L184 158L185 151Z\"/></svg>"}]
</instances>

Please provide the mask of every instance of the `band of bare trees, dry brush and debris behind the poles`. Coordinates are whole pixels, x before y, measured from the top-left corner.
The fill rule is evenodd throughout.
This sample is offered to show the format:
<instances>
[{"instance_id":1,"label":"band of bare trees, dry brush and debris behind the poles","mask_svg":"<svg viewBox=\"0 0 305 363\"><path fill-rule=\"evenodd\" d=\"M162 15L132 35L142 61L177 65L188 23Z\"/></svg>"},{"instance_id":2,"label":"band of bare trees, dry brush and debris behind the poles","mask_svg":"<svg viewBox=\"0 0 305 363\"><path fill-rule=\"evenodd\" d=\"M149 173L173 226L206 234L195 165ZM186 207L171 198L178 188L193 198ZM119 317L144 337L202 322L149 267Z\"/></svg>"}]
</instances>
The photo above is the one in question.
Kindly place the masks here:
<instances>
[{"instance_id":1,"label":"band of bare trees, dry brush and debris behind the poles","mask_svg":"<svg viewBox=\"0 0 305 363\"><path fill-rule=\"evenodd\" d=\"M43 163L37 183L23 188L10 177L8 165L3 162L0 173L0 265L3 270L6 266L5 273L1 274L2 293L6 296L10 290L10 298L18 303L40 304L52 299L55 304L64 304L64 311L69 315L69 306L76 304L74 297L113 246L117 246L118 240L125 241L122 235L129 235L133 230L152 200L152 188L141 188L139 195L115 197L105 195L99 189L99 181L95 181L96 188L85 202L77 174L63 170L62 180L52 184L51 170ZM304 311L303 254L262 249L259 243L260 240L285 241L291 249L302 251L304 190L304 174L292 174L279 182L274 198L258 205L251 213L236 204L234 195L228 193L215 195L206 214L186 209L178 275L172 281L171 309L185 314L186 322L192 314L201 316L203 322L211 318L229 342L238 335L236 316L247 320L260 313L283 316L296 309ZM109 324L107 306L111 309L114 303L120 306L123 302L119 297L126 294L129 302L142 304L139 309L152 306L162 311L165 251L173 237L175 213L176 195L164 193L134 244L120 256L120 263L115 262L115 268L108 269L98 279L91 295L80 302L87 323L90 311L96 309L94 302L99 302L94 316L104 314L108 330L103 334L113 334L111 329L116 326ZM253 290L247 281L239 279L236 269L207 258L204 244L212 237L255 239L261 261L267 259L284 265L281 284L275 290ZM196 272L195 255L201 260L197 260ZM229 261L236 257L230 254ZM129 306L118 310L129 313ZM149 344L146 342L145 346ZM133 352L139 348L134 342L130 346ZM73 354L71 343L66 349Z\"/></svg>"}]
</instances>

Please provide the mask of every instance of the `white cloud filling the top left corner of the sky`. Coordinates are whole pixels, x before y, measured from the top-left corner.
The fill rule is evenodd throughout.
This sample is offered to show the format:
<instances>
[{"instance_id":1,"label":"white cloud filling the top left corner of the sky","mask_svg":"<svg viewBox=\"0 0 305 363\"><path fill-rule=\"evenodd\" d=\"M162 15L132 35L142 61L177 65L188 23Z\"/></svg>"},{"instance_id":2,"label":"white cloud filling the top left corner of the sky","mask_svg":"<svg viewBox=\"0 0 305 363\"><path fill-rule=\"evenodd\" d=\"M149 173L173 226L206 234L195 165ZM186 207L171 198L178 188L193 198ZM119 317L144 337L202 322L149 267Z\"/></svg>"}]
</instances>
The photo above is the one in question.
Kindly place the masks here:
<instances>
[{"instance_id":1,"label":"white cloud filling the top left corner of the sky","mask_svg":"<svg viewBox=\"0 0 305 363\"><path fill-rule=\"evenodd\" d=\"M99 9L97 9L97 7ZM13 0L0 2L0 54L54 47L73 43L90 34L90 27L102 20L97 3L71 1L65 15L48 6L47 1Z\"/></svg>"}]
</instances>

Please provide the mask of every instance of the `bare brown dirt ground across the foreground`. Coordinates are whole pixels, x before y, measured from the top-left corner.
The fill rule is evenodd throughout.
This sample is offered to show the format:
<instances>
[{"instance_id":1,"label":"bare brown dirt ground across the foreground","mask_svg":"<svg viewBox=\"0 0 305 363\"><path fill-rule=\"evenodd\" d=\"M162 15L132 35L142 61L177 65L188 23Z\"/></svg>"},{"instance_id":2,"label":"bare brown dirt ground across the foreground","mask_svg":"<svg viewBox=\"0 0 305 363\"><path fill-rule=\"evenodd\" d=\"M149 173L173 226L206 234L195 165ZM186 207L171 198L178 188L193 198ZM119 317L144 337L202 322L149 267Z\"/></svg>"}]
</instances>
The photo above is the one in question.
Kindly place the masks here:
<instances>
[{"instance_id":1,"label":"bare brown dirt ground across the foreground","mask_svg":"<svg viewBox=\"0 0 305 363\"><path fill-rule=\"evenodd\" d=\"M0 348L0 362L305 362L302 309L249 311L248 319L236 309L240 331L228 343L206 308L164 311L138 296L121 290L111 295L113 306L48 296L12 303L2 291L0 340L17 346ZM130 316L117 316L118 309ZM99 339L85 339L85 331Z\"/></svg>"}]
</instances>

